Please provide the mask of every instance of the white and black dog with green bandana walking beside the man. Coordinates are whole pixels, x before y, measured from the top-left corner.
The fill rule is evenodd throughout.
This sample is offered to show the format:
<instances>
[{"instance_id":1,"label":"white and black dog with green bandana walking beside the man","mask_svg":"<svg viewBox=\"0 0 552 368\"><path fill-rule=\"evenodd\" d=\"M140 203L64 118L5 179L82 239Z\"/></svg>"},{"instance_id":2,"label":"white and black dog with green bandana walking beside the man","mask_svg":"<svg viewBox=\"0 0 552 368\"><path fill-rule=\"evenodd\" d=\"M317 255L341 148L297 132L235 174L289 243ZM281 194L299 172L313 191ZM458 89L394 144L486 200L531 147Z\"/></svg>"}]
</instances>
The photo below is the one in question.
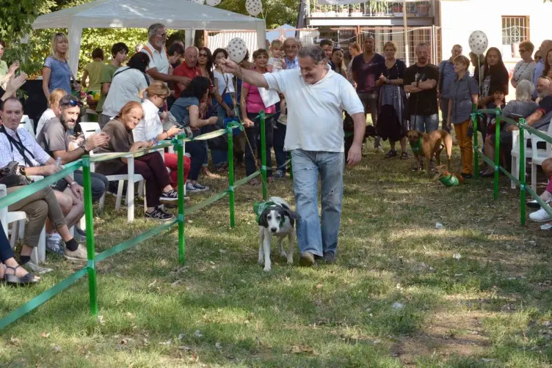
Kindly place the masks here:
<instances>
[{"instance_id":1,"label":"white and black dog with green bandana walking beside the man","mask_svg":"<svg viewBox=\"0 0 552 368\"><path fill-rule=\"evenodd\" d=\"M270 197L274 204L266 207L259 216L259 264L264 262L264 271L270 271L270 240L278 237L280 255L286 257L288 264L293 263L293 249L295 246L295 220L297 214L290 205L280 197ZM288 253L284 251L282 241L288 237Z\"/></svg>"}]
</instances>

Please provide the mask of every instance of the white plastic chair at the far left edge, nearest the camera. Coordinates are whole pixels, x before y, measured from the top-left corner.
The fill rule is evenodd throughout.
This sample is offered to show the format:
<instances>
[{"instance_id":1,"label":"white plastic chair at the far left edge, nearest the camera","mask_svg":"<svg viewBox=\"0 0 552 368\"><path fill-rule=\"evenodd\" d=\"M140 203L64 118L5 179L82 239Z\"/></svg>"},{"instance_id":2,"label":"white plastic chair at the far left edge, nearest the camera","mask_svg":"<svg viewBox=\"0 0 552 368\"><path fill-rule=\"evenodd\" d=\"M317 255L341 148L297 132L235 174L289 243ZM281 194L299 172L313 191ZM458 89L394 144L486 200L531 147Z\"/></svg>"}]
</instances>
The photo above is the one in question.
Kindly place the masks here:
<instances>
[{"instance_id":1,"label":"white plastic chair at the far left edge, nearest the camera","mask_svg":"<svg viewBox=\"0 0 552 368\"><path fill-rule=\"evenodd\" d=\"M42 178L42 177L39 177ZM6 185L0 184L0 198L6 197L8 190ZM6 237L10 239L10 246L14 248L17 238L23 238L25 235L25 223L27 220L27 214L24 211L8 211L6 207L0 209L0 220ZM8 231L8 225L13 223L11 238ZM30 255L32 262L40 264L40 262L46 261L46 224L44 224L39 238L39 246L32 249Z\"/></svg>"}]
</instances>

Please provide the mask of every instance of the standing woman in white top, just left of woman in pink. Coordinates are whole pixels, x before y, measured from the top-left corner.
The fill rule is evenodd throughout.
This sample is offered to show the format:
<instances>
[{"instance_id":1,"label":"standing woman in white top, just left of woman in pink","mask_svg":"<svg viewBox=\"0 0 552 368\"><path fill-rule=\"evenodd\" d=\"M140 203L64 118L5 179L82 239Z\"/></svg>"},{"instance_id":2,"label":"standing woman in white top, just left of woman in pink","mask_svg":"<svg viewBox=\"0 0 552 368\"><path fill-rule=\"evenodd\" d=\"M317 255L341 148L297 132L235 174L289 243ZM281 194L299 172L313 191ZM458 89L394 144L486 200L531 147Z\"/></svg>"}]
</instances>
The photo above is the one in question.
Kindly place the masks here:
<instances>
[{"instance_id":1,"label":"standing woman in white top, just left of woman in pink","mask_svg":"<svg viewBox=\"0 0 552 368\"><path fill-rule=\"evenodd\" d=\"M220 61L228 58L228 52L224 48L217 48L213 52L213 60L215 61L215 99L219 103L217 106L217 126L222 128L226 117L234 117L234 107L236 106L236 91L233 84L234 76L230 73L222 72ZM212 150L213 164L217 172L224 173L227 168L228 152Z\"/></svg>"}]
</instances>

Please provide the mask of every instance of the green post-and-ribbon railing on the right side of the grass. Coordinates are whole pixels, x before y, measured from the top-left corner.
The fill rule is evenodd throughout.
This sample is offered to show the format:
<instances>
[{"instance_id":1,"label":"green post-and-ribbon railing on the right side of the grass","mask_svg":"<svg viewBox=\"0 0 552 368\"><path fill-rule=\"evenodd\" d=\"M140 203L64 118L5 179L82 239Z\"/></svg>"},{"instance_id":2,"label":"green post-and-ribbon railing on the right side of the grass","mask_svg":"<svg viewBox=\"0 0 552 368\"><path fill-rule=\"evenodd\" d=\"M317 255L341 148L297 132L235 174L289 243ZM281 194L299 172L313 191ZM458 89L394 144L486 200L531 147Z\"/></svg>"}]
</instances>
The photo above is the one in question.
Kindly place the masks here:
<instances>
[{"instance_id":1,"label":"green post-and-ribbon railing on the right side of the grass","mask_svg":"<svg viewBox=\"0 0 552 368\"><path fill-rule=\"evenodd\" d=\"M478 141L477 141L477 117L484 117L485 115L495 115L495 157L494 161L489 159L489 157L486 157L484 153L482 153L479 150L478 147ZM542 206L544 211L549 213L549 215L552 216L552 209L548 204L545 204L544 201L542 201L537 193L533 191L533 188L531 186L527 186L525 182L525 141L524 141L524 133L525 131L528 131L532 135L535 135L536 137L540 137L544 139L546 142L552 144L552 137L549 135L546 135L546 133L542 132L541 130L537 130L533 128L530 125L525 124L525 119L520 119L520 122L515 122L515 120L510 119L509 117L502 116L502 113L500 112L500 109L492 110L492 109L482 109L477 110L477 105L473 104L473 109L471 113L471 120L473 122L473 152L474 152L474 159L475 159L475 178L479 178L479 157L483 159L486 164L489 164L491 167L494 168L494 186L493 186L493 197L495 200L498 199L498 177L500 175L500 171L504 173L512 182L514 182L516 185L520 186L520 223L522 225L526 222L526 204L525 204L525 196L526 191L529 191L529 194ZM515 178L509 171L506 170L506 168L500 166L500 122L505 122L506 124L516 126L520 130L520 173L518 175L519 179Z\"/></svg>"}]
</instances>

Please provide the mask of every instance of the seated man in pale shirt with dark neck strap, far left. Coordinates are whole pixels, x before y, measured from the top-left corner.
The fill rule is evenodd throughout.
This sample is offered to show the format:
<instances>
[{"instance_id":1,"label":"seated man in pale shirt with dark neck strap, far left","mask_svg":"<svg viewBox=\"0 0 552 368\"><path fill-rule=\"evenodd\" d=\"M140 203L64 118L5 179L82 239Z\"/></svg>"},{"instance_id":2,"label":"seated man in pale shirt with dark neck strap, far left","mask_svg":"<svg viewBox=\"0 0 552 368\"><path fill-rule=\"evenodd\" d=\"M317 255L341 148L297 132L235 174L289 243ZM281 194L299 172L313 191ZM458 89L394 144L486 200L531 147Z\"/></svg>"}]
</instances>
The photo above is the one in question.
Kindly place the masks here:
<instances>
[{"instance_id":1,"label":"seated man in pale shirt with dark neck strap, far left","mask_svg":"<svg viewBox=\"0 0 552 368\"><path fill-rule=\"evenodd\" d=\"M6 99L1 111L0 168L3 168L10 162L17 162L21 166L26 166L26 173L28 175L48 176L57 173L61 168L56 166L55 159L50 157L48 153L37 144L34 137L32 137L25 128L19 128L19 122L21 122L21 117L23 116L23 106L19 99L14 97ZM48 208L50 209L54 207L52 202L55 202L55 200L53 198L57 199L55 205L59 204L58 207L61 207L61 212L65 218L59 219L57 218L58 216L52 218L52 216L50 216L51 213L49 213L48 219L50 221L46 222L46 233L48 234L46 238L46 248L55 253L64 255L66 258L71 257L70 259L86 260L86 248L79 246L79 244L70 237L70 233L65 231L67 228L77 224L84 214L82 186L72 180L70 176L66 176L64 179L52 185L54 189L53 193L51 193L52 188L48 188L50 193L46 193L45 190L44 192L46 194L38 199L43 200L46 198ZM8 188L8 193L10 193L10 189L11 188ZM18 211L18 209L12 209L12 206L10 206L10 211ZM41 226L38 228L38 235L42 229ZM63 228L63 231L60 231L61 226L66 226ZM37 229L36 226L35 229ZM36 236L34 238L36 238L35 240L38 239ZM66 243L67 249L63 249L61 245L62 240ZM31 244L31 246L34 246L34 244Z\"/></svg>"}]
</instances>

